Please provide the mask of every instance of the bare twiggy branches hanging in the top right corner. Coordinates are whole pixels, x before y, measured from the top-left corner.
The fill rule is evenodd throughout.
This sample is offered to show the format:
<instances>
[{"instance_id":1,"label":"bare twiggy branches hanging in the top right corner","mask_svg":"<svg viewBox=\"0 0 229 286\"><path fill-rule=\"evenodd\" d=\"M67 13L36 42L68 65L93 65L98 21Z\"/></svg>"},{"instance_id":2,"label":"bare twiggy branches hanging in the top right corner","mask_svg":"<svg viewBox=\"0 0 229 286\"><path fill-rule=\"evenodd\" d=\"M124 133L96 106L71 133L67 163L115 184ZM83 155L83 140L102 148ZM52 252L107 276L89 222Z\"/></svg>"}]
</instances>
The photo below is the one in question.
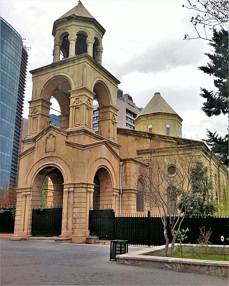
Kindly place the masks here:
<instances>
[{"instance_id":1,"label":"bare twiggy branches hanging in the top right corner","mask_svg":"<svg viewBox=\"0 0 229 286\"><path fill-rule=\"evenodd\" d=\"M191 0L187 1L188 5L182 5L182 7L197 12L196 16L192 16L190 20L197 37L190 38L189 35L185 35L184 40L204 39L212 41L208 38L207 28L213 29L219 26L221 29L226 29L229 8L227 0L198 0L197 2L194 1L194 4Z\"/></svg>"}]
</instances>

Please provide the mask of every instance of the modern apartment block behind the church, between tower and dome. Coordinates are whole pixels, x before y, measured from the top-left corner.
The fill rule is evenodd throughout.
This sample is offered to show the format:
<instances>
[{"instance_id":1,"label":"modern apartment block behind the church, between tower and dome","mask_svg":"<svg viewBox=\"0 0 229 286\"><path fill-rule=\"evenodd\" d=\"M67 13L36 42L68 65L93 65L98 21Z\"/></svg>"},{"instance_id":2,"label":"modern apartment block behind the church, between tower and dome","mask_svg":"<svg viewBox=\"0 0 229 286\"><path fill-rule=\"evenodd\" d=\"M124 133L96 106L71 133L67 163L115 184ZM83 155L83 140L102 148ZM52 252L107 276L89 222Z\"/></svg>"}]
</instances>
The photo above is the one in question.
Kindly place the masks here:
<instances>
[{"instance_id":1,"label":"modern apartment block behind the church, between tower and dome","mask_svg":"<svg viewBox=\"0 0 229 286\"><path fill-rule=\"evenodd\" d=\"M93 129L96 134L98 134L99 128L99 110L98 104L94 105L93 110ZM130 128L135 130L134 119L138 116L143 108L137 107L133 102L130 94L123 94L123 90L118 89L117 91L117 127L120 128Z\"/></svg>"}]
</instances>

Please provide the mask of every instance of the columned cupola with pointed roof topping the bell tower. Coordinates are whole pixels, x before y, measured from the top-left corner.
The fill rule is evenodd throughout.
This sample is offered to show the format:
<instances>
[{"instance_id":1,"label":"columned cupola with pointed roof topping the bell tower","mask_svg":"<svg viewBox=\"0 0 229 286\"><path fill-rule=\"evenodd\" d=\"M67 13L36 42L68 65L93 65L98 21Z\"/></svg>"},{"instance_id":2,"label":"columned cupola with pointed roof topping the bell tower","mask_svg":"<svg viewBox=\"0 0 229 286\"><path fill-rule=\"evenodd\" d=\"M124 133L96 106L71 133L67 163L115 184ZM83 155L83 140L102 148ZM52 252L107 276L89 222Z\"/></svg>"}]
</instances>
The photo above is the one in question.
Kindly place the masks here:
<instances>
[{"instance_id":1,"label":"columned cupola with pointed roof topping the bell tower","mask_svg":"<svg viewBox=\"0 0 229 286\"><path fill-rule=\"evenodd\" d=\"M102 64L102 37L105 29L84 8L82 3L65 13L54 22L53 62L61 56L69 58L88 53Z\"/></svg>"}]
</instances>

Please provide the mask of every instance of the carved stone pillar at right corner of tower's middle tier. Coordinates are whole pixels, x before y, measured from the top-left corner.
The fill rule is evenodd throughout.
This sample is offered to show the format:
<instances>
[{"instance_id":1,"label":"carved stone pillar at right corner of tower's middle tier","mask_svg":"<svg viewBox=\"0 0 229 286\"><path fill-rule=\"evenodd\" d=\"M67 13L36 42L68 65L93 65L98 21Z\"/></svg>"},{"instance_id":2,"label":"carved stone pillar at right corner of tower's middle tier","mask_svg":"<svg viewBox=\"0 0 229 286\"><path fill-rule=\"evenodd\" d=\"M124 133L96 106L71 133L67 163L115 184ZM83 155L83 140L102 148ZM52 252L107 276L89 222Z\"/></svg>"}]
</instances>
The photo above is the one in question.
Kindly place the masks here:
<instances>
[{"instance_id":1,"label":"carved stone pillar at right corner of tower's middle tier","mask_svg":"<svg viewBox=\"0 0 229 286\"><path fill-rule=\"evenodd\" d=\"M112 105L101 106L99 110L99 135L115 140L117 139L117 112Z\"/></svg>"}]
</instances>

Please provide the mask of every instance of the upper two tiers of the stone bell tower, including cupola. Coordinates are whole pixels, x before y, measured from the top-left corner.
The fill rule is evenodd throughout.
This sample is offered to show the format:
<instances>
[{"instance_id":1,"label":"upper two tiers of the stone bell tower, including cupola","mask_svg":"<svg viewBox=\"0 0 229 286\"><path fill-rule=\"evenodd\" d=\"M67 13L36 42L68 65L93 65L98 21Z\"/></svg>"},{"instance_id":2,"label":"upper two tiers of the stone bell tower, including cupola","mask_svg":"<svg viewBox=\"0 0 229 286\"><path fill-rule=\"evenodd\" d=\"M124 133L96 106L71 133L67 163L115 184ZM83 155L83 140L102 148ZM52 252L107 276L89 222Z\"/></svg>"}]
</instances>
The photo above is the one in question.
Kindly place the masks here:
<instances>
[{"instance_id":1,"label":"upper two tiers of the stone bell tower, including cupola","mask_svg":"<svg viewBox=\"0 0 229 286\"><path fill-rule=\"evenodd\" d=\"M31 71L29 136L42 132L49 121L50 98L61 108L60 127L67 131L92 128L93 101L99 103L99 135L116 141L117 84L102 67L105 29L78 5L54 22L53 63Z\"/></svg>"}]
</instances>

